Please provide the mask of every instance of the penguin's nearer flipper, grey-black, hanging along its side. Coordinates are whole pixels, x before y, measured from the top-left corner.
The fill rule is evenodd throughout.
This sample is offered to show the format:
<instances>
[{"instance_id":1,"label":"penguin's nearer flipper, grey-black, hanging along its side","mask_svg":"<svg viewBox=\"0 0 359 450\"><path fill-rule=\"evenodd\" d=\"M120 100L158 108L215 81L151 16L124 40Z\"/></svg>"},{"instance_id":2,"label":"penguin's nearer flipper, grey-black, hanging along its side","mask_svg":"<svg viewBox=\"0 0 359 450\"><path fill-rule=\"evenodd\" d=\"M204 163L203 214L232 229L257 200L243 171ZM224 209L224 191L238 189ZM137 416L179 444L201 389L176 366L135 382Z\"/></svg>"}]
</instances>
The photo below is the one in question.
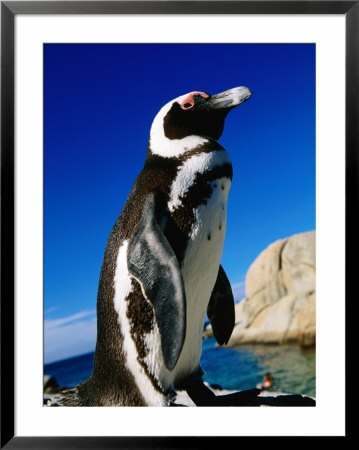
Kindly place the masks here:
<instances>
[{"instance_id":1,"label":"penguin's nearer flipper, grey-black, hanging along its side","mask_svg":"<svg viewBox=\"0 0 359 450\"><path fill-rule=\"evenodd\" d=\"M177 257L156 220L152 193L146 199L141 221L129 242L127 264L153 304L164 362L172 370L186 333L186 298Z\"/></svg>"}]
</instances>

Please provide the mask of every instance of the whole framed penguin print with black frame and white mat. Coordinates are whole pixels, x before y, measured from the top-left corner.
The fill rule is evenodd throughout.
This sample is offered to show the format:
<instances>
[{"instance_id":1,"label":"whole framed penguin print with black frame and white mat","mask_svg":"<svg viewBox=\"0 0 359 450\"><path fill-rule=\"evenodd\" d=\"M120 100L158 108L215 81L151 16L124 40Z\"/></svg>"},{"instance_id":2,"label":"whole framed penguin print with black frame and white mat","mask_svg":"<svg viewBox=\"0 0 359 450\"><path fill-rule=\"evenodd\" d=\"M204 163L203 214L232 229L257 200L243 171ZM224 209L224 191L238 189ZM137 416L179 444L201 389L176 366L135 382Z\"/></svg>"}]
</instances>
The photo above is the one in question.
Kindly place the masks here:
<instances>
[{"instance_id":1,"label":"whole framed penguin print with black frame and white mat","mask_svg":"<svg viewBox=\"0 0 359 450\"><path fill-rule=\"evenodd\" d=\"M229 437L347 436L358 11L356 1L1 2L2 447L197 448ZM212 103L225 109L221 123L214 115L196 122ZM182 119L192 110L190 122ZM202 140L194 144L197 135ZM161 153L169 148L169 155ZM211 212L211 195L218 190L213 202L225 211L221 192L232 167L222 254L226 216ZM185 209L178 212L187 203L189 219ZM187 220L196 224L191 232ZM208 228L205 239L196 240L196 227ZM298 254L303 260L292 268ZM218 274L220 260L229 282ZM273 261L277 284L267 289L259 278L264 266L273 272ZM199 285L193 273L203 265L214 277ZM251 317L241 325L233 312L237 341L227 337L222 315L225 325L216 322L218 306L206 309L219 278L231 284L230 308L234 297L236 314ZM202 308L210 337L197 349L188 330L193 320L202 343L203 322L190 298L193 291L199 301L204 285L211 285ZM164 302L161 289L173 292L171 299ZM269 294L257 295L265 289L280 291L272 310ZM104 300L110 297L111 317ZM248 306L252 297L256 311ZM255 323L266 327L262 340ZM227 359L218 357L216 340L229 341ZM238 342L242 350L232 351ZM99 357L99 348L112 353ZM277 353L284 348L282 363ZM211 408L187 387L189 397L174 397L172 385L199 373L201 351L203 380L214 392L256 388L270 368L279 393L315 399L315 407ZM114 380L131 379L132 388L111 397L101 386L117 374L121 358L126 368ZM249 365L255 376L246 377ZM53 395L44 398L44 374L61 388L83 382L85 388L68 391L68 407L49 408L64 399L54 380ZM154 407L187 405L185 398L204 407Z\"/></svg>"}]
</instances>

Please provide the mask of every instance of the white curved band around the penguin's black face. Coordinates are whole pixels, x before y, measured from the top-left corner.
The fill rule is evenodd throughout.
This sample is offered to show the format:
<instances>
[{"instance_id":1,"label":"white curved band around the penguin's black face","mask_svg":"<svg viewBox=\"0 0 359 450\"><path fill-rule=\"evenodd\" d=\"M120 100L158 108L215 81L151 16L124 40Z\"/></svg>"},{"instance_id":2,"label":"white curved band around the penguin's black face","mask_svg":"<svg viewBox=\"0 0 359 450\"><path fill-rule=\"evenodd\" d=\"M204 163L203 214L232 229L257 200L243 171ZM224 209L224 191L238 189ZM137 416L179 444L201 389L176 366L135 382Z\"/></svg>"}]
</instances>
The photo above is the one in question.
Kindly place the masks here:
<instances>
[{"instance_id":1,"label":"white curved band around the penguin's black face","mask_svg":"<svg viewBox=\"0 0 359 450\"><path fill-rule=\"evenodd\" d=\"M166 117L166 114L171 109L173 103L177 102L181 104L188 95L189 94L181 95L181 97L171 100L160 109L155 117L150 132L150 146L152 153L165 158L176 157L189 150L193 150L201 144L209 142L209 139L201 136L187 136L183 139L168 139L164 134L163 120Z\"/></svg>"}]
</instances>

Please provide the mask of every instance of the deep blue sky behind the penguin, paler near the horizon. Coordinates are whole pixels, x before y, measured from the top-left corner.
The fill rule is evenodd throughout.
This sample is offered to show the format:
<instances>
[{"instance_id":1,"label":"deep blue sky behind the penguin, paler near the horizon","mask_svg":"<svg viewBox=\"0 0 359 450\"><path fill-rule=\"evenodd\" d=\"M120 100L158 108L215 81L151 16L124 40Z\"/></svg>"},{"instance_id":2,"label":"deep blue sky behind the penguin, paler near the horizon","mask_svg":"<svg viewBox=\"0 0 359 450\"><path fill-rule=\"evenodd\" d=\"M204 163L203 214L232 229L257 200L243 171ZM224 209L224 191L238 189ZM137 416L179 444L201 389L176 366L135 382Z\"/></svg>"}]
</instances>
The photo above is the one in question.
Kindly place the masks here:
<instances>
[{"instance_id":1,"label":"deep blue sky behind the penguin, paler near the horizon","mask_svg":"<svg viewBox=\"0 0 359 450\"><path fill-rule=\"evenodd\" d=\"M237 300L264 248L315 229L315 46L44 46L45 362L94 349L103 252L158 110L241 85L253 96L220 139L234 171L222 265Z\"/></svg>"}]
</instances>

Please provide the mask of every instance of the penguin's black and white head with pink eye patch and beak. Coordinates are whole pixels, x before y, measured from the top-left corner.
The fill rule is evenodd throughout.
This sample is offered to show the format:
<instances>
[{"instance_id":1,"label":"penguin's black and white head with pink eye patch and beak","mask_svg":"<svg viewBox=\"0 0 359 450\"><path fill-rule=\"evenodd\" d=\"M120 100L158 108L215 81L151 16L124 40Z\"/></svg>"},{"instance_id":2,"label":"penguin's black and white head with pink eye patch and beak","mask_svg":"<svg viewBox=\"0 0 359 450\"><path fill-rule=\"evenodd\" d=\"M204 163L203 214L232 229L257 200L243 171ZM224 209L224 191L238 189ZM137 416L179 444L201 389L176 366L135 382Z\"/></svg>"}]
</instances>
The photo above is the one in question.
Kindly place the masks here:
<instances>
[{"instance_id":1,"label":"penguin's black and white head with pink eye patch and beak","mask_svg":"<svg viewBox=\"0 0 359 450\"><path fill-rule=\"evenodd\" d=\"M206 140L219 139L228 112L251 95L248 88L240 86L216 95L194 91L170 101L152 123L151 152L179 156Z\"/></svg>"}]
</instances>

